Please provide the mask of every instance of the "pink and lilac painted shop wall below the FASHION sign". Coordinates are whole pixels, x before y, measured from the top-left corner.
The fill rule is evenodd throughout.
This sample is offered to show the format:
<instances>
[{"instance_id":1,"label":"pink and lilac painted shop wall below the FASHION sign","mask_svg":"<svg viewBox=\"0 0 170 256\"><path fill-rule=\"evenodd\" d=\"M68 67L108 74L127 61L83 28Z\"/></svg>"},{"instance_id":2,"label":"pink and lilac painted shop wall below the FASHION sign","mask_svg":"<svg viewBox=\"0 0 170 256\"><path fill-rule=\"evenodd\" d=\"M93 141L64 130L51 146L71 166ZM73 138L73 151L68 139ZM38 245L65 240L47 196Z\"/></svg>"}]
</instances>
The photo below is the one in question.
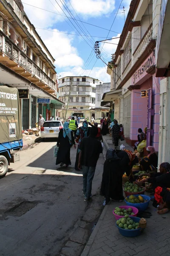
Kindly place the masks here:
<instances>
[{"instance_id":1,"label":"pink and lilac painted shop wall below the FASHION sign","mask_svg":"<svg viewBox=\"0 0 170 256\"><path fill-rule=\"evenodd\" d=\"M131 122L130 122L130 140L137 141L138 129L147 126L147 97L141 97L141 90L147 90L152 87L152 77L141 84L139 90L131 92Z\"/></svg>"}]
</instances>

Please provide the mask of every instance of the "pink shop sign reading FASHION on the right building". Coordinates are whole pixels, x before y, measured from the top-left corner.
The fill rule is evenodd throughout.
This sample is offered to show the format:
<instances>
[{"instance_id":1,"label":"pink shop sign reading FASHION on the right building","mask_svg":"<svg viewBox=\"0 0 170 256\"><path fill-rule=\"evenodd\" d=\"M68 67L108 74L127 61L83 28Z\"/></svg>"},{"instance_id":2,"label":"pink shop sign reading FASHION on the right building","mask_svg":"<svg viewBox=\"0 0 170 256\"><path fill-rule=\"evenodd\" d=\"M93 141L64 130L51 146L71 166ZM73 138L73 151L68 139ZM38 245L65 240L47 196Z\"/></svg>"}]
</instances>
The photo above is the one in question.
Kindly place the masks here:
<instances>
[{"instance_id":1,"label":"pink shop sign reading FASHION on the right building","mask_svg":"<svg viewBox=\"0 0 170 256\"><path fill-rule=\"evenodd\" d=\"M153 53L145 60L138 70L133 74L133 84L136 84L140 79L147 75L146 70L153 65Z\"/></svg>"}]
</instances>

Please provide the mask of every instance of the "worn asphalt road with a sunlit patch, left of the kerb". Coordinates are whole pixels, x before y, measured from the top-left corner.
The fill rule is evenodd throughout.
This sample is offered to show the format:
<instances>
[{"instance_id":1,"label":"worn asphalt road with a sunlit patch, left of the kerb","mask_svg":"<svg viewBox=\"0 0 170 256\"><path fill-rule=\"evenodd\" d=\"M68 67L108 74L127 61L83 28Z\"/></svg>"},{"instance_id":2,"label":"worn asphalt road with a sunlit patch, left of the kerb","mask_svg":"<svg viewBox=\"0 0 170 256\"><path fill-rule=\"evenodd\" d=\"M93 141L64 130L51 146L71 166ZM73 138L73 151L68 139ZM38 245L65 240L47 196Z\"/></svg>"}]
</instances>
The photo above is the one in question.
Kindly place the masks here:
<instances>
[{"instance_id":1,"label":"worn asphalt road with a sunlit patch, left of the kerb","mask_svg":"<svg viewBox=\"0 0 170 256\"><path fill-rule=\"evenodd\" d=\"M0 180L0 255L57 256L68 241L77 219L87 210L82 195L82 172L72 166L57 168L55 141L20 153ZM92 195L99 188L103 156L96 168Z\"/></svg>"}]
</instances>

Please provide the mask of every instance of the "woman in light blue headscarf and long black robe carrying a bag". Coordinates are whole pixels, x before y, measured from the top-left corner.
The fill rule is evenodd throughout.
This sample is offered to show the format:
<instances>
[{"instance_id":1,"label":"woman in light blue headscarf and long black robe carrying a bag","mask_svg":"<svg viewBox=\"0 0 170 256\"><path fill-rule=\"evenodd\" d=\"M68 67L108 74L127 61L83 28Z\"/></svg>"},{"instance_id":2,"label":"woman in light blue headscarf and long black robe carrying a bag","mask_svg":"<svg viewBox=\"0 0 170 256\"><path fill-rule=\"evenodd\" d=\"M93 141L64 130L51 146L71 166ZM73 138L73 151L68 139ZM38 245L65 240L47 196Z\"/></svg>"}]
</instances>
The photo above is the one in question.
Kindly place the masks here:
<instances>
[{"instance_id":1,"label":"woman in light blue headscarf and long black robe carrying a bag","mask_svg":"<svg viewBox=\"0 0 170 256\"><path fill-rule=\"evenodd\" d=\"M59 131L59 137L57 139L57 146L59 147L56 159L56 165L61 163L60 166L65 164L65 167L71 165L70 160L70 148L76 144L73 137L73 132L68 128L69 123L65 122L63 128Z\"/></svg>"}]
</instances>

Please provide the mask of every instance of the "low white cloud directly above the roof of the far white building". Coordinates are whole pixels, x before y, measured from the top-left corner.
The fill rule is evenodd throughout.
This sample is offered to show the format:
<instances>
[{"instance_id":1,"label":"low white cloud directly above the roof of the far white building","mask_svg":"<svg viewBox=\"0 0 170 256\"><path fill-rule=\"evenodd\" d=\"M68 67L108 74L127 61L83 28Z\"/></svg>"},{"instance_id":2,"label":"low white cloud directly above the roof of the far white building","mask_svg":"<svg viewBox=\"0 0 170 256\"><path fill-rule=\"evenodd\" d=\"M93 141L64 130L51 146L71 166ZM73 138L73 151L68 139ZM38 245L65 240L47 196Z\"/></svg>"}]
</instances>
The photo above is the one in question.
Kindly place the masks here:
<instances>
[{"instance_id":1,"label":"low white cloud directly above the roof of the far white building","mask_svg":"<svg viewBox=\"0 0 170 256\"><path fill-rule=\"evenodd\" d=\"M81 67L74 67L72 69L68 68L65 72L60 72L61 77L64 76L91 76L95 79L102 80L103 82L111 82L111 76L106 73L107 67L94 67L93 70L83 70L83 73L80 74ZM91 73L90 73L91 72ZM89 75L90 73L90 75ZM59 78L61 78L59 77Z\"/></svg>"}]
</instances>

